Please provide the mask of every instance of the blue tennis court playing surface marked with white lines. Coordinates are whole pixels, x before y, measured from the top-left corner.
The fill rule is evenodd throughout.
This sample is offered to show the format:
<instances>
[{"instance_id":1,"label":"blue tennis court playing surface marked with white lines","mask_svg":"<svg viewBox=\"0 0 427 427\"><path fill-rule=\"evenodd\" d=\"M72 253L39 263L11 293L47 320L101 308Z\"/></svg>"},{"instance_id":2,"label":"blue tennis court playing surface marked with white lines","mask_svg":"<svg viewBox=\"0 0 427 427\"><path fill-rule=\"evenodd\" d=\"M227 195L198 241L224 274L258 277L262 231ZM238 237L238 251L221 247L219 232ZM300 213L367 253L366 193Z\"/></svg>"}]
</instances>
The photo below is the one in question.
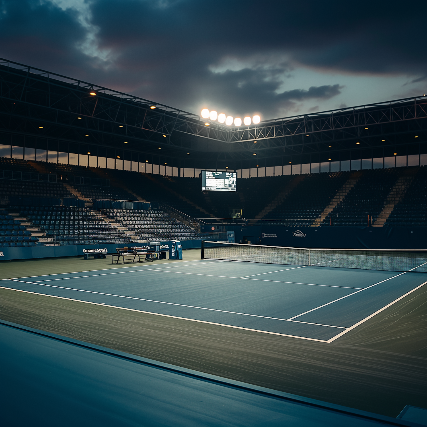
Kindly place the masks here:
<instances>
[{"instance_id":1,"label":"blue tennis court playing surface marked with white lines","mask_svg":"<svg viewBox=\"0 0 427 427\"><path fill-rule=\"evenodd\" d=\"M332 342L427 283L427 273L183 261L4 279L10 289Z\"/></svg>"}]
</instances>

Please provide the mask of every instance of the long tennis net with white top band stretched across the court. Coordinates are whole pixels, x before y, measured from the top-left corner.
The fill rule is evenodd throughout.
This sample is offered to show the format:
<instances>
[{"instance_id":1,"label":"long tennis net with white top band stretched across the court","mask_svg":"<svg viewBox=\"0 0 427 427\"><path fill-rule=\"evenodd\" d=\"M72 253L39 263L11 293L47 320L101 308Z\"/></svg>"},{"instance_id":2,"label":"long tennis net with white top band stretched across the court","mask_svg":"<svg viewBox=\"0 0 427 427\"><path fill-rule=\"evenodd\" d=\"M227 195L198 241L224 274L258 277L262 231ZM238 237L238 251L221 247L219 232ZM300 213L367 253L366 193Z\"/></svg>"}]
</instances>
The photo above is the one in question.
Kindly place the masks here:
<instances>
[{"instance_id":1,"label":"long tennis net with white top band stretched across the court","mask_svg":"<svg viewBox=\"0 0 427 427\"><path fill-rule=\"evenodd\" d=\"M305 249L202 241L202 259L427 272L427 250Z\"/></svg>"}]
</instances>

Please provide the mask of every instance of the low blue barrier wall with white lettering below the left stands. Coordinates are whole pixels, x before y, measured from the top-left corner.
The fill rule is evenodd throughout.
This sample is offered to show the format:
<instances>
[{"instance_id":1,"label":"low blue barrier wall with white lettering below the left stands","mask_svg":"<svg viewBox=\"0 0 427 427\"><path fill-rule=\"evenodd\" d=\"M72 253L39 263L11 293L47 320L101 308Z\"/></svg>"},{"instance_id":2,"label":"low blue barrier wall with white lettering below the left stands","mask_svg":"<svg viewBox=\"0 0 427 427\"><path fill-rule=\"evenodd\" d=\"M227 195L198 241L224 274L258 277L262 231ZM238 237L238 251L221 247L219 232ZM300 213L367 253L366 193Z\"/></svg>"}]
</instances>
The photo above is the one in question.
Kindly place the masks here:
<instances>
[{"instance_id":1,"label":"low blue barrier wall with white lettering below the left stands","mask_svg":"<svg viewBox=\"0 0 427 427\"><path fill-rule=\"evenodd\" d=\"M170 245L170 241L161 242L162 246ZM144 243L104 243L101 245L63 245L63 246L28 246L22 248L0 248L0 261L24 260L33 258L54 258L82 256L84 250L100 249L97 253L116 253L116 248L124 246L143 246ZM182 249L197 249L202 247L202 240L183 240ZM184 255L185 257L185 255Z\"/></svg>"}]
</instances>

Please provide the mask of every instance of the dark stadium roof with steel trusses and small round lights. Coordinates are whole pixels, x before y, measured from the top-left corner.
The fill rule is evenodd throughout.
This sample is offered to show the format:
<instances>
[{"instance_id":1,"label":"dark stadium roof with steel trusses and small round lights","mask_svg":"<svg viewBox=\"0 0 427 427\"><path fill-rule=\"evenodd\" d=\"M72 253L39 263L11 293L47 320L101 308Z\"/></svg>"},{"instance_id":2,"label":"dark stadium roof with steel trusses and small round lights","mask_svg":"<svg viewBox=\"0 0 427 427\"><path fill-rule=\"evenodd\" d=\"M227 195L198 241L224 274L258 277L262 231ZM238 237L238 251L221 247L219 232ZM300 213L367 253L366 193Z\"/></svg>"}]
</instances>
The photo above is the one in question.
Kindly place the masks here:
<instances>
[{"instance_id":1,"label":"dark stadium roof with steel trusses and small round lights","mask_svg":"<svg viewBox=\"0 0 427 427\"><path fill-rule=\"evenodd\" d=\"M237 169L427 152L424 95L236 128L0 58L0 105L0 132L12 135L12 145L44 139L47 145L56 141L60 151L87 146L109 156L118 150L123 158L180 167Z\"/></svg>"}]
</instances>

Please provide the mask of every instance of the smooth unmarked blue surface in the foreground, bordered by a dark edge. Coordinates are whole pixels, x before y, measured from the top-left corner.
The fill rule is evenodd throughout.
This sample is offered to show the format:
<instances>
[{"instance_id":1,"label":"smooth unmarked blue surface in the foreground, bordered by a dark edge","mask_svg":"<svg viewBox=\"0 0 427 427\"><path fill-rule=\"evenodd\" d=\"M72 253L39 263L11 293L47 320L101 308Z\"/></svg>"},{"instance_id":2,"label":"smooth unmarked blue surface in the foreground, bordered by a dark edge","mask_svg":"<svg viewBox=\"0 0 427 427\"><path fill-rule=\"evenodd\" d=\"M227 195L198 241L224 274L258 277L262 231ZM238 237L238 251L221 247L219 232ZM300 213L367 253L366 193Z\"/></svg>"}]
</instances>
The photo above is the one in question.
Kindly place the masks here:
<instances>
[{"instance_id":1,"label":"smooth unmarked blue surface in the foreground, bordered by a dark edge","mask_svg":"<svg viewBox=\"0 0 427 427\"><path fill-rule=\"evenodd\" d=\"M3 425L415 426L0 323Z\"/></svg>"}]
</instances>

